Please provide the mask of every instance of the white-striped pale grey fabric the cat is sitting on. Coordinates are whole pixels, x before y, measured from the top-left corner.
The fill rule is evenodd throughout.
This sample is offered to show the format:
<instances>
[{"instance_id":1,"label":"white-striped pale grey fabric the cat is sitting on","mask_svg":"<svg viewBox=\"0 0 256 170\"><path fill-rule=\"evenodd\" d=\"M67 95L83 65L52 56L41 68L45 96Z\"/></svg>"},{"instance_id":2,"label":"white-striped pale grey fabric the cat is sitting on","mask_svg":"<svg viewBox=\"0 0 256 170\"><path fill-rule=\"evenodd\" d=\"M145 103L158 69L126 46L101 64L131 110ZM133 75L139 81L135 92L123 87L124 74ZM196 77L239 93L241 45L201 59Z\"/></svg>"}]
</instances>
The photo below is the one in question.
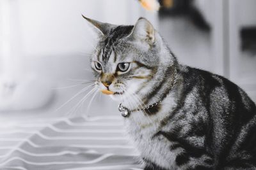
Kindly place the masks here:
<instances>
[{"instance_id":1,"label":"white-striped pale grey fabric the cat is sitting on","mask_svg":"<svg viewBox=\"0 0 256 170\"><path fill-rule=\"evenodd\" d=\"M120 117L0 122L0 169L140 169Z\"/></svg>"}]
</instances>

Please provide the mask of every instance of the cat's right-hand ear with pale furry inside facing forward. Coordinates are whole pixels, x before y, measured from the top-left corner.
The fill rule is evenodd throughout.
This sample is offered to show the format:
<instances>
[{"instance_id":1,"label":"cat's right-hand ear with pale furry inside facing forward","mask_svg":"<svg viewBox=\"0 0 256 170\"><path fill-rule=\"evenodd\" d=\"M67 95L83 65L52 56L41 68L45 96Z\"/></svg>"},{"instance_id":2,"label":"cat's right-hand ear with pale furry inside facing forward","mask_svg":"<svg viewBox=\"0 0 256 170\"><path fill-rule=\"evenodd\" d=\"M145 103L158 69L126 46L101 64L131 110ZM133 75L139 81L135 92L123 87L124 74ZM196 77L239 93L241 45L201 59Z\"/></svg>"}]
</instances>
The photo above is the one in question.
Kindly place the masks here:
<instances>
[{"instance_id":1,"label":"cat's right-hand ear with pale furry inside facing forward","mask_svg":"<svg viewBox=\"0 0 256 170\"><path fill-rule=\"evenodd\" d=\"M139 18L134 25L129 38L146 41L152 45L155 41L155 29L153 25L146 18Z\"/></svg>"}]
</instances>

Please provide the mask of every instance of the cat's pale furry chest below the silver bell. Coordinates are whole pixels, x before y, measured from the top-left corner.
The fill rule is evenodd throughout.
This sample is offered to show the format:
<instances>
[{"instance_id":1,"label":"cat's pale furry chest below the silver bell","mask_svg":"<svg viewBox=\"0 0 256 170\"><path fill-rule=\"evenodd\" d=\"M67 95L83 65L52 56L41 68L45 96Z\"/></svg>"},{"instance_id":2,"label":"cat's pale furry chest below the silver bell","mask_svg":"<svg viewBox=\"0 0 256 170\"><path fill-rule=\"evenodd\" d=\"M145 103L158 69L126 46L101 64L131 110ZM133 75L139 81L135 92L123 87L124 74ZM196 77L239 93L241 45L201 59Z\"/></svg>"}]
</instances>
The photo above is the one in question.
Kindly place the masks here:
<instances>
[{"instance_id":1,"label":"cat's pale furry chest below the silver bell","mask_svg":"<svg viewBox=\"0 0 256 170\"><path fill-rule=\"evenodd\" d=\"M166 169L175 169L177 153L170 152L172 143L163 136L156 136L159 131L159 121L136 121L138 117L125 120L125 125L134 145L140 152L141 158L150 160Z\"/></svg>"}]
</instances>

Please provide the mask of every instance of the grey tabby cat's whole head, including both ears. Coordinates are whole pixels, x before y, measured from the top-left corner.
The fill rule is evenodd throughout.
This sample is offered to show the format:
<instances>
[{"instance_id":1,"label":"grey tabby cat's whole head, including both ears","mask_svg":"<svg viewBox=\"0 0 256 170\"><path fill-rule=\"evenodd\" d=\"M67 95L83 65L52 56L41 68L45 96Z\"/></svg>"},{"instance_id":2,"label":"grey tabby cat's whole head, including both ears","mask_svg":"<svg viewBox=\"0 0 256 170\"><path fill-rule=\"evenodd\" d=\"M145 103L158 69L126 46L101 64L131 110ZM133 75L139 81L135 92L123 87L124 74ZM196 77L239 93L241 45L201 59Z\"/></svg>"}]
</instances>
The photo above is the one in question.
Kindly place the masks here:
<instances>
[{"instance_id":1,"label":"grey tabby cat's whole head, including both ears","mask_svg":"<svg viewBox=\"0 0 256 170\"><path fill-rule=\"evenodd\" d=\"M84 16L83 16L84 17ZM170 51L152 24L139 18L135 25L112 25L84 17L99 35L91 58L97 86L115 100L142 100L157 81Z\"/></svg>"}]
</instances>

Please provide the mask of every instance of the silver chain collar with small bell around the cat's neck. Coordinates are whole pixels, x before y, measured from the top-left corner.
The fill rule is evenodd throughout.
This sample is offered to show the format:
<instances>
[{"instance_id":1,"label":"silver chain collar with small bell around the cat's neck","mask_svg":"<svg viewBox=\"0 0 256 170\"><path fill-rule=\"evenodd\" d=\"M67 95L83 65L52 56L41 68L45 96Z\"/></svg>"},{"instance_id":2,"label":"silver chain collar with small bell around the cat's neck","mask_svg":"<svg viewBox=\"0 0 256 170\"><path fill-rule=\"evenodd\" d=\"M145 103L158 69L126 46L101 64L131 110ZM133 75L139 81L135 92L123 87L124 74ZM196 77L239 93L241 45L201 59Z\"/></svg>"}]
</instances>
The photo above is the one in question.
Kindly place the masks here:
<instances>
[{"instance_id":1,"label":"silver chain collar with small bell around the cat's neck","mask_svg":"<svg viewBox=\"0 0 256 170\"><path fill-rule=\"evenodd\" d=\"M172 89L173 89L173 87L174 87L174 85L175 85L175 83L176 83L176 81L177 81L177 69L175 69L174 75L175 75L175 76L174 76L174 80L173 80L173 82L172 82L171 89L170 89L169 92L163 97L163 99L164 99L165 97L167 97L168 94L170 94L170 92L172 91ZM122 117L129 117L129 115L130 115L133 111L148 110L148 109L150 109L150 108L153 108L154 106L157 106L157 104L161 103L161 102L163 101L163 99L160 100L160 101L157 101L156 103L150 104L150 105L148 105L148 106L145 107L145 108L139 108L139 109L136 109L136 110L129 110L128 108L122 106L122 103L120 103L119 106L118 106L118 111L120 111Z\"/></svg>"}]
</instances>

